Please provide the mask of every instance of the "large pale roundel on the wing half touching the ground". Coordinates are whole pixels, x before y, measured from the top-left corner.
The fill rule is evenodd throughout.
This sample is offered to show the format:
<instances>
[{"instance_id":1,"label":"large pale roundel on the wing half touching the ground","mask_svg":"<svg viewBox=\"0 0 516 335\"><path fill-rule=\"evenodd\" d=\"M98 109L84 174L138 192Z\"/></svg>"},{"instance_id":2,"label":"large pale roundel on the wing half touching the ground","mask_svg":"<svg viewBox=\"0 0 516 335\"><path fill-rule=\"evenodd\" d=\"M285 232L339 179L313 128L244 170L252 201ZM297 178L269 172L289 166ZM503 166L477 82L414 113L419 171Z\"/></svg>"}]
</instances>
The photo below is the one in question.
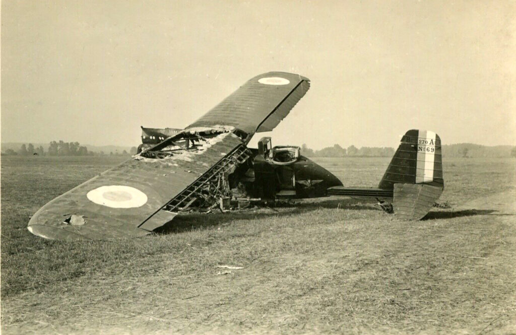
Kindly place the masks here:
<instances>
[{"instance_id":1,"label":"large pale roundel on the wing half touching the ground","mask_svg":"<svg viewBox=\"0 0 516 335\"><path fill-rule=\"evenodd\" d=\"M111 185L92 189L86 195L96 204L111 208L133 208L143 206L147 195L131 186Z\"/></svg>"}]
</instances>

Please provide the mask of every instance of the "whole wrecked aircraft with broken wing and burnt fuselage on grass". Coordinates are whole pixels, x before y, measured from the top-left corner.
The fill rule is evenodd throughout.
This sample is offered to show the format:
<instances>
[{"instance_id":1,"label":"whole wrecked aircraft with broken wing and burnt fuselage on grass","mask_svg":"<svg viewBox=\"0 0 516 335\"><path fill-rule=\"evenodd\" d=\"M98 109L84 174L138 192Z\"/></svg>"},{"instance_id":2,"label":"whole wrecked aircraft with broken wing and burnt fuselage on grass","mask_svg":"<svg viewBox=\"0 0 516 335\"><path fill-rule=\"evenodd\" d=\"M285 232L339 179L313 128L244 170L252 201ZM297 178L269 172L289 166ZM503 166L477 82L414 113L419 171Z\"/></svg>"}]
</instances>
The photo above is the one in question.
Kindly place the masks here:
<instances>
[{"instance_id":1,"label":"whole wrecked aircraft with broken wing and burnt fuselage on grass","mask_svg":"<svg viewBox=\"0 0 516 335\"><path fill-rule=\"evenodd\" d=\"M45 204L28 230L52 240L147 235L192 208L230 200L369 197L404 219L420 219L443 190L441 142L411 130L401 139L378 188L343 187L299 152L272 147L271 131L310 87L308 78L269 72L247 83L184 130L142 127L140 152Z\"/></svg>"}]
</instances>

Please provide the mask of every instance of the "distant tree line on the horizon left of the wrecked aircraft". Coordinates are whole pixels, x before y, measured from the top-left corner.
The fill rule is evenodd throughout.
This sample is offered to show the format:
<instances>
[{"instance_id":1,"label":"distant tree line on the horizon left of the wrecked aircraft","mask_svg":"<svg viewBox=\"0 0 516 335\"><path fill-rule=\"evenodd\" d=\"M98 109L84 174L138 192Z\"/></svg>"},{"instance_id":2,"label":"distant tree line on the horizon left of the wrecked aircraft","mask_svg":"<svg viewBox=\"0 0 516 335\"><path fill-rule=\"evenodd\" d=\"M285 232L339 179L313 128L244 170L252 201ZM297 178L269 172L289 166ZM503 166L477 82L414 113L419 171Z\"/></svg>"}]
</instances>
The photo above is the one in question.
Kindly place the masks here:
<instances>
[{"instance_id":1,"label":"distant tree line on the horizon left of the wrecked aircraft","mask_svg":"<svg viewBox=\"0 0 516 335\"><path fill-rule=\"evenodd\" d=\"M122 152L112 151L107 153L109 155L117 155L117 156L125 156L125 155L134 155L136 154L136 147L132 147L130 152L127 150L123 150ZM3 155L20 155L20 156L33 156L33 155L49 155L49 156L102 156L106 155L104 151L93 152L88 151L88 148L85 146L81 146L79 142L65 142L62 140L52 141L50 142L49 148L45 151L43 146L39 146L35 148L32 143L28 143L28 145L22 144L20 149L17 151L13 149L7 149L2 153Z\"/></svg>"}]
</instances>

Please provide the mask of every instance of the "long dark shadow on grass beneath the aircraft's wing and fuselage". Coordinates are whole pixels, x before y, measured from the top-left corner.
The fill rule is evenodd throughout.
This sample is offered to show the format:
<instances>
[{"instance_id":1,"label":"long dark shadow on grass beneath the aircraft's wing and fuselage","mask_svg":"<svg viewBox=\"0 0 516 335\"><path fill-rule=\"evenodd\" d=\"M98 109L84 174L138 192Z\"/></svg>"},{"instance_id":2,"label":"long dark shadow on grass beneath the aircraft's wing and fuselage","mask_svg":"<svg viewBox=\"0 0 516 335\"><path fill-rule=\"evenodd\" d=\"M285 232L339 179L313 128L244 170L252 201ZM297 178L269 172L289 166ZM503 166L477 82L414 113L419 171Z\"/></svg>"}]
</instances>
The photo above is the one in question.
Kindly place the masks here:
<instances>
[{"instance_id":1,"label":"long dark shadow on grass beneath the aircraft's wing and fuselage","mask_svg":"<svg viewBox=\"0 0 516 335\"><path fill-rule=\"evenodd\" d=\"M176 234L206 227L223 225L232 220L261 220L268 217L284 217L316 211L318 209L379 211L374 205L366 205L353 199L323 200L314 202L280 203L275 207L257 206L249 209L234 210L227 213L217 212L187 213L176 216L172 221L154 230L157 234Z\"/></svg>"}]
</instances>

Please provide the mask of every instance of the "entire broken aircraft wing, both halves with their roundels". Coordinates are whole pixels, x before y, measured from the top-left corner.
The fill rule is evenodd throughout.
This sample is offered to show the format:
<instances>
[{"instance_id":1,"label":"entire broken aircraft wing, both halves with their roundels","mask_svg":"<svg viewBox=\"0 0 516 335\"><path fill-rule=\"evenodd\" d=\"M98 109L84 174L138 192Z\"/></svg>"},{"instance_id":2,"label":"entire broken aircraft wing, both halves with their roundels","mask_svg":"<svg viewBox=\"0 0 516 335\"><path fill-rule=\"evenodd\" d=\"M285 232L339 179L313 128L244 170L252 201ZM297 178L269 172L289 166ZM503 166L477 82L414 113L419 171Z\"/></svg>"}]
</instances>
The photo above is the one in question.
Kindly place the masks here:
<instances>
[{"instance_id":1,"label":"entire broken aircraft wing, both halves with their roundels","mask_svg":"<svg viewBox=\"0 0 516 335\"><path fill-rule=\"evenodd\" d=\"M182 132L47 203L27 228L53 240L146 235L243 162L250 135L272 130L308 89L296 74L256 76Z\"/></svg>"}]
</instances>

